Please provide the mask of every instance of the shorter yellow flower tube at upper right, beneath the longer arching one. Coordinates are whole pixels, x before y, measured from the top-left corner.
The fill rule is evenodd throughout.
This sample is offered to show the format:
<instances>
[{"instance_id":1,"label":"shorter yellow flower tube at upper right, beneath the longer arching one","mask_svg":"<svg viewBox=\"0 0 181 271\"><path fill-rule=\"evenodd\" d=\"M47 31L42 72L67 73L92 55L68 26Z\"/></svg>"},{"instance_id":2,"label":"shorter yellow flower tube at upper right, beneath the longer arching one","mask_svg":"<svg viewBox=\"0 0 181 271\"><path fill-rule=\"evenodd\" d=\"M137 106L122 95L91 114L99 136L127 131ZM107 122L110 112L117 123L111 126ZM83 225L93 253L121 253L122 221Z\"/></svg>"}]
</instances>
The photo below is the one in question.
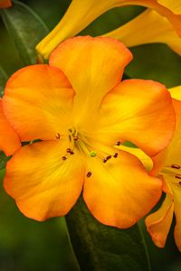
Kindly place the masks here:
<instances>
[{"instance_id":1,"label":"shorter yellow flower tube at upper right, beneath the longer arching one","mask_svg":"<svg viewBox=\"0 0 181 271\"><path fill-rule=\"evenodd\" d=\"M166 43L181 55L181 38L173 25L166 17L150 9L103 36L117 39L128 47L154 42Z\"/></svg>"}]
</instances>

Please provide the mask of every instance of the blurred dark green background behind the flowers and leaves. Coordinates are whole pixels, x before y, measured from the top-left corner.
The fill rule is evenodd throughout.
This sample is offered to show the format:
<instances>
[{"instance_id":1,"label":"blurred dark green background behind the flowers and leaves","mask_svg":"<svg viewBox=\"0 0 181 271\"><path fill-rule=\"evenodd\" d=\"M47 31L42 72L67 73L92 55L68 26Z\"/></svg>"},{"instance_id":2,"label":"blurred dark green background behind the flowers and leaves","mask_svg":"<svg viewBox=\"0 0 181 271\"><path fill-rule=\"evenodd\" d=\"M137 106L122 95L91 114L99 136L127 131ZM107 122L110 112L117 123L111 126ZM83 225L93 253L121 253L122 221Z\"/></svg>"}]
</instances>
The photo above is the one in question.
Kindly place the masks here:
<instances>
[{"instance_id":1,"label":"blurred dark green background behind the flowers and leaves","mask_svg":"<svg viewBox=\"0 0 181 271\"><path fill-rule=\"evenodd\" d=\"M49 30L59 22L71 3L68 0L22 2L32 7ZM128 22L142 10L143 8L138 6L113 9L91 23L81 34L95 36L106 33ZM149 44L132 48L131 51L134 61L126 70L129 77L156 79L166 84L167 88L181 84L181 58L167 48L167 45ZM8 76L24 66L2 20L0 65ZM0 171L0 271L79 270L71 251L64 219L57 218L40 223L25 218L3 190L4 174L4 171ZM180 271L181 253L176 248L173 229L167 238L166 248L161 249L152 243L144 222L140 221L140 224L148 244L153 271Z\"/></svg>"}]
</instances>

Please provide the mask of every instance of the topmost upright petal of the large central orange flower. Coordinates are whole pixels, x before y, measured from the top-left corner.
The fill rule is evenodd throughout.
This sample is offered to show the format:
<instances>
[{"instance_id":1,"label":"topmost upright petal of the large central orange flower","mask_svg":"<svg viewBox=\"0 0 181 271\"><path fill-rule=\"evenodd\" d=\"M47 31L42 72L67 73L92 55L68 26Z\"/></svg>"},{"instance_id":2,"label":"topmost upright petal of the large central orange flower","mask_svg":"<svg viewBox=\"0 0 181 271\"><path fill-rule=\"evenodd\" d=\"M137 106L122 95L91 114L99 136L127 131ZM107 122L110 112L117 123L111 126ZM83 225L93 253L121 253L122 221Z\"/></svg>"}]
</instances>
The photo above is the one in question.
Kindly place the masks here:
<instances>
[{"instance_id":1,"label":"topmost upright petal of the large central orange flower","mask_svg":"<svg viewBox=\"0 0 181 271\"><path fill-rule=\"evenodd\" d=\"M107 92L115 87L130 51L110 38L76 37L63 42L52 52L50 65L60 68L76 92L75 113L95 111Z\"/></svg>"}]
</instances>

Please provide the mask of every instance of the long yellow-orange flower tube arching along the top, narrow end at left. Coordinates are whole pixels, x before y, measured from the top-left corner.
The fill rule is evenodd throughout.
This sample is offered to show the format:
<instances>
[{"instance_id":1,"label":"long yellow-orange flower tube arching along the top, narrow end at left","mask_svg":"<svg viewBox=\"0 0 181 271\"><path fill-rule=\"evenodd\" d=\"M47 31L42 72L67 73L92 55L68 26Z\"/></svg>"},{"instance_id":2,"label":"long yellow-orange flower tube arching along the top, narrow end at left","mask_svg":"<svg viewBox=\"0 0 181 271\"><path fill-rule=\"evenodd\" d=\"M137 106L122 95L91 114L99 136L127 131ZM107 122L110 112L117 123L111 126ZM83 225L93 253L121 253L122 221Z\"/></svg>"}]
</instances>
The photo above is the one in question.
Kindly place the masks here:
<instances>
[{"instance_id":1,"label":"long yellow-orange flower tube arching along the top, narrow end at left","mask_svg":"<svg viewBox=\"0 0 181 271\"><path fill-rule=\"evenodd\" d=\"M180 3L180 0L178 1ZM174 25L176 31L181 33L180 13L174 14L176 5L171 2L167 5L167 3L165 5L163 1L160 5L156 0L72 0L60 23L36 46L36 50L47 59L59 43L80 33L82 29L99 17L100 14L105 13L113 7L124 5L143 5L155 9L159 14L166 16Z\"/></svg>"}]
</instances>

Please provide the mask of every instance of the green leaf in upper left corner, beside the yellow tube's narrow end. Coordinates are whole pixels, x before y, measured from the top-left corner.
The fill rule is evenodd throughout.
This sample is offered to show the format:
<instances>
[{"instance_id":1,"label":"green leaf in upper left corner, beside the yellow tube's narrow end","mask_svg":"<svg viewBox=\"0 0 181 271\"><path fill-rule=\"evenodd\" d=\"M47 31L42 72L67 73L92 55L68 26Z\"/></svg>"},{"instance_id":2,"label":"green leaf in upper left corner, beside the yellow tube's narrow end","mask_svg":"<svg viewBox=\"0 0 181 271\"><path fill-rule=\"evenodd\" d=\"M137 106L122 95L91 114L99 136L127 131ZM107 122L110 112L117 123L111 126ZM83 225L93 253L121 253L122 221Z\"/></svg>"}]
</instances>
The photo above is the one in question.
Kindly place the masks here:
<instances>
[{"instance_id":1,"label":"green leaf in upper left corner, beside the yellow tube's narrow end","mask_svg":"<svg viewBox=\"0 0 181 271\"><path fill-rule=\"evenodd\" d=\"M24 65L34 64L34 47L48 33L48 29L30 7L18 1L13 3L11 8L1 11L3 21Z\"/></svg>"}]
</instances>

